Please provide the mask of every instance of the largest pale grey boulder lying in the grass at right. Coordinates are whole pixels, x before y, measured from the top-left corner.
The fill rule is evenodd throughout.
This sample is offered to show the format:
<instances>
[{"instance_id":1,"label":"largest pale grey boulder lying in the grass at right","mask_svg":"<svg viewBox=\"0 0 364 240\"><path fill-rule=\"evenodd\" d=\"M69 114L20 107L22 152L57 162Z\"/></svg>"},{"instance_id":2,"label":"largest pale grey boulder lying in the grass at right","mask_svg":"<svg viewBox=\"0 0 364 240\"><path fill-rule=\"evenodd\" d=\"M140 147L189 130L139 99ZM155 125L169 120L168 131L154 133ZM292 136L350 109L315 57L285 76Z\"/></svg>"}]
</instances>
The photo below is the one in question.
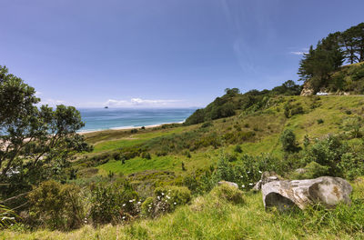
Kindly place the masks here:
<instances>
[{"instance_id":1,"label":"largest pale grey boulder lying in the grass at right","mask_svg":"<svg viewBox=\"0 0 364 240\"><path fill-rule=\"evenodd\" d=\"M315 179L272 181L261 186L265 207L276 206L283 211L298 206L322 203L328 207L339 202L350 204L351 185L339 177L321 176Z\"/></svg>"}]
</instances>

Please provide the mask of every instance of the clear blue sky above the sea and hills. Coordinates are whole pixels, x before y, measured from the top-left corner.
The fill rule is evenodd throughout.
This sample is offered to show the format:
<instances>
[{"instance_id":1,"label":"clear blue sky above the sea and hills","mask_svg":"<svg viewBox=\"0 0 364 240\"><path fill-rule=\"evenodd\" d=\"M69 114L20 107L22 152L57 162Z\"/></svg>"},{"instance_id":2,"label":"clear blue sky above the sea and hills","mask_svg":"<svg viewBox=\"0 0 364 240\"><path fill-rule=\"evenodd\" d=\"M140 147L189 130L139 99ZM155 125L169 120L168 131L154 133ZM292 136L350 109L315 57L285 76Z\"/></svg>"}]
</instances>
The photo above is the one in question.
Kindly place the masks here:
<instances>
[{"instance_id":1,"label":"clear blue sky above the sea and hills","mask_svg":"<svg viewBox=\"0 0 364 240\"><path fill-rule=\"evenodd\" d=\"M204 106L298 80L362 0L0 0L0 65L56 105Z\"/></svg>"}]
</instances>

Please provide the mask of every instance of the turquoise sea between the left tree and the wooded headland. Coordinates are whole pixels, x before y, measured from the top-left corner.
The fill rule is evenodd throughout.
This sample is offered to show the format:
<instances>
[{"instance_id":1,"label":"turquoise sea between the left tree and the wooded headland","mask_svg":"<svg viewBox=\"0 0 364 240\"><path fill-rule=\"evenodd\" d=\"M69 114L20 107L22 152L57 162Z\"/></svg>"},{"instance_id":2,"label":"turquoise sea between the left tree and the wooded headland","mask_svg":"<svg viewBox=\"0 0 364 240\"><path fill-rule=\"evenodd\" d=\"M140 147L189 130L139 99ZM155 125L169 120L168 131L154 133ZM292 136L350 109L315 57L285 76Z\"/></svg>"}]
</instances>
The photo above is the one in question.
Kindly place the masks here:
<instances>
[{"instance_id":1,"label":"turquoise sea between the left tree and the wooded headland","mask_svg":"<svg viewBox=\"0 0 364 240\"><path fill-rule=\"evenodd\" d=\"M196 109L120 109L120 108L81 108L85 127L80 132L105 129L123 129L136 126L181 123Z\"/></svg>"}]
</instances>

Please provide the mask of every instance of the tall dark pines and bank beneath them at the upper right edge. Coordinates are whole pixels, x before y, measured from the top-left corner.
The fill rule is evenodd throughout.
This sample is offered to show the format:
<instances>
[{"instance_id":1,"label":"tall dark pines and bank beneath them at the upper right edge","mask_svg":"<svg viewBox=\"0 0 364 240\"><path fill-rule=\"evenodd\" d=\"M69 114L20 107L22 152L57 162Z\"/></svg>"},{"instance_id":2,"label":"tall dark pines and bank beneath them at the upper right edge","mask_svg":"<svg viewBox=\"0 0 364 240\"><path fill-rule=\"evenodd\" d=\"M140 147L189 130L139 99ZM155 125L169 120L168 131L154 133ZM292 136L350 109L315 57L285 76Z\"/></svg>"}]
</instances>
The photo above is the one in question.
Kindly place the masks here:
<instances>
[{"instance_id":1,"label":"tall dark pines and bank beneath them at the upper right edge","mask_svg":"<svg viewBox=\"0 0 364 240\"><path fill-rule=\"evenodd\" d=\"M331 92L362 94L364 65L353 64L364 62L363 41L364 23L361 23L346 31L329 34L319 41L316 48L311 45L300 62L300 80L305 81L314 93L326 88ZM350 65L340 68L344 62Z\"/></svg>"}]
</instances>

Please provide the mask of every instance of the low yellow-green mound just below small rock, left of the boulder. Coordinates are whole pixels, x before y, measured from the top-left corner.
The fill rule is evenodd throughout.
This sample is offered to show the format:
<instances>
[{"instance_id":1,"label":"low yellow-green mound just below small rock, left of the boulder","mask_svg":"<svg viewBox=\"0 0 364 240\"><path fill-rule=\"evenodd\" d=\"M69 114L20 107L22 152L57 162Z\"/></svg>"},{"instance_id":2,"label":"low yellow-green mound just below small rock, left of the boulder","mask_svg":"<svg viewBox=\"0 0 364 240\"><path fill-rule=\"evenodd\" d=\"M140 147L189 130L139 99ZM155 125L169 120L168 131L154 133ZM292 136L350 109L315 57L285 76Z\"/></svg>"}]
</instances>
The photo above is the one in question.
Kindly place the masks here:
<instances>
[{"instance_id":1,"label":"low yellow-green mound just below small rock, left of the boulder","mask_svg":"<svg viewBox=\"0 0 364 240\"><path fill-rule=\"evenodd\" d=\"M243 192L232 185L217 185L211 190L210 194L236 205L244 203Z\"/></svg>"}]
</instances>

